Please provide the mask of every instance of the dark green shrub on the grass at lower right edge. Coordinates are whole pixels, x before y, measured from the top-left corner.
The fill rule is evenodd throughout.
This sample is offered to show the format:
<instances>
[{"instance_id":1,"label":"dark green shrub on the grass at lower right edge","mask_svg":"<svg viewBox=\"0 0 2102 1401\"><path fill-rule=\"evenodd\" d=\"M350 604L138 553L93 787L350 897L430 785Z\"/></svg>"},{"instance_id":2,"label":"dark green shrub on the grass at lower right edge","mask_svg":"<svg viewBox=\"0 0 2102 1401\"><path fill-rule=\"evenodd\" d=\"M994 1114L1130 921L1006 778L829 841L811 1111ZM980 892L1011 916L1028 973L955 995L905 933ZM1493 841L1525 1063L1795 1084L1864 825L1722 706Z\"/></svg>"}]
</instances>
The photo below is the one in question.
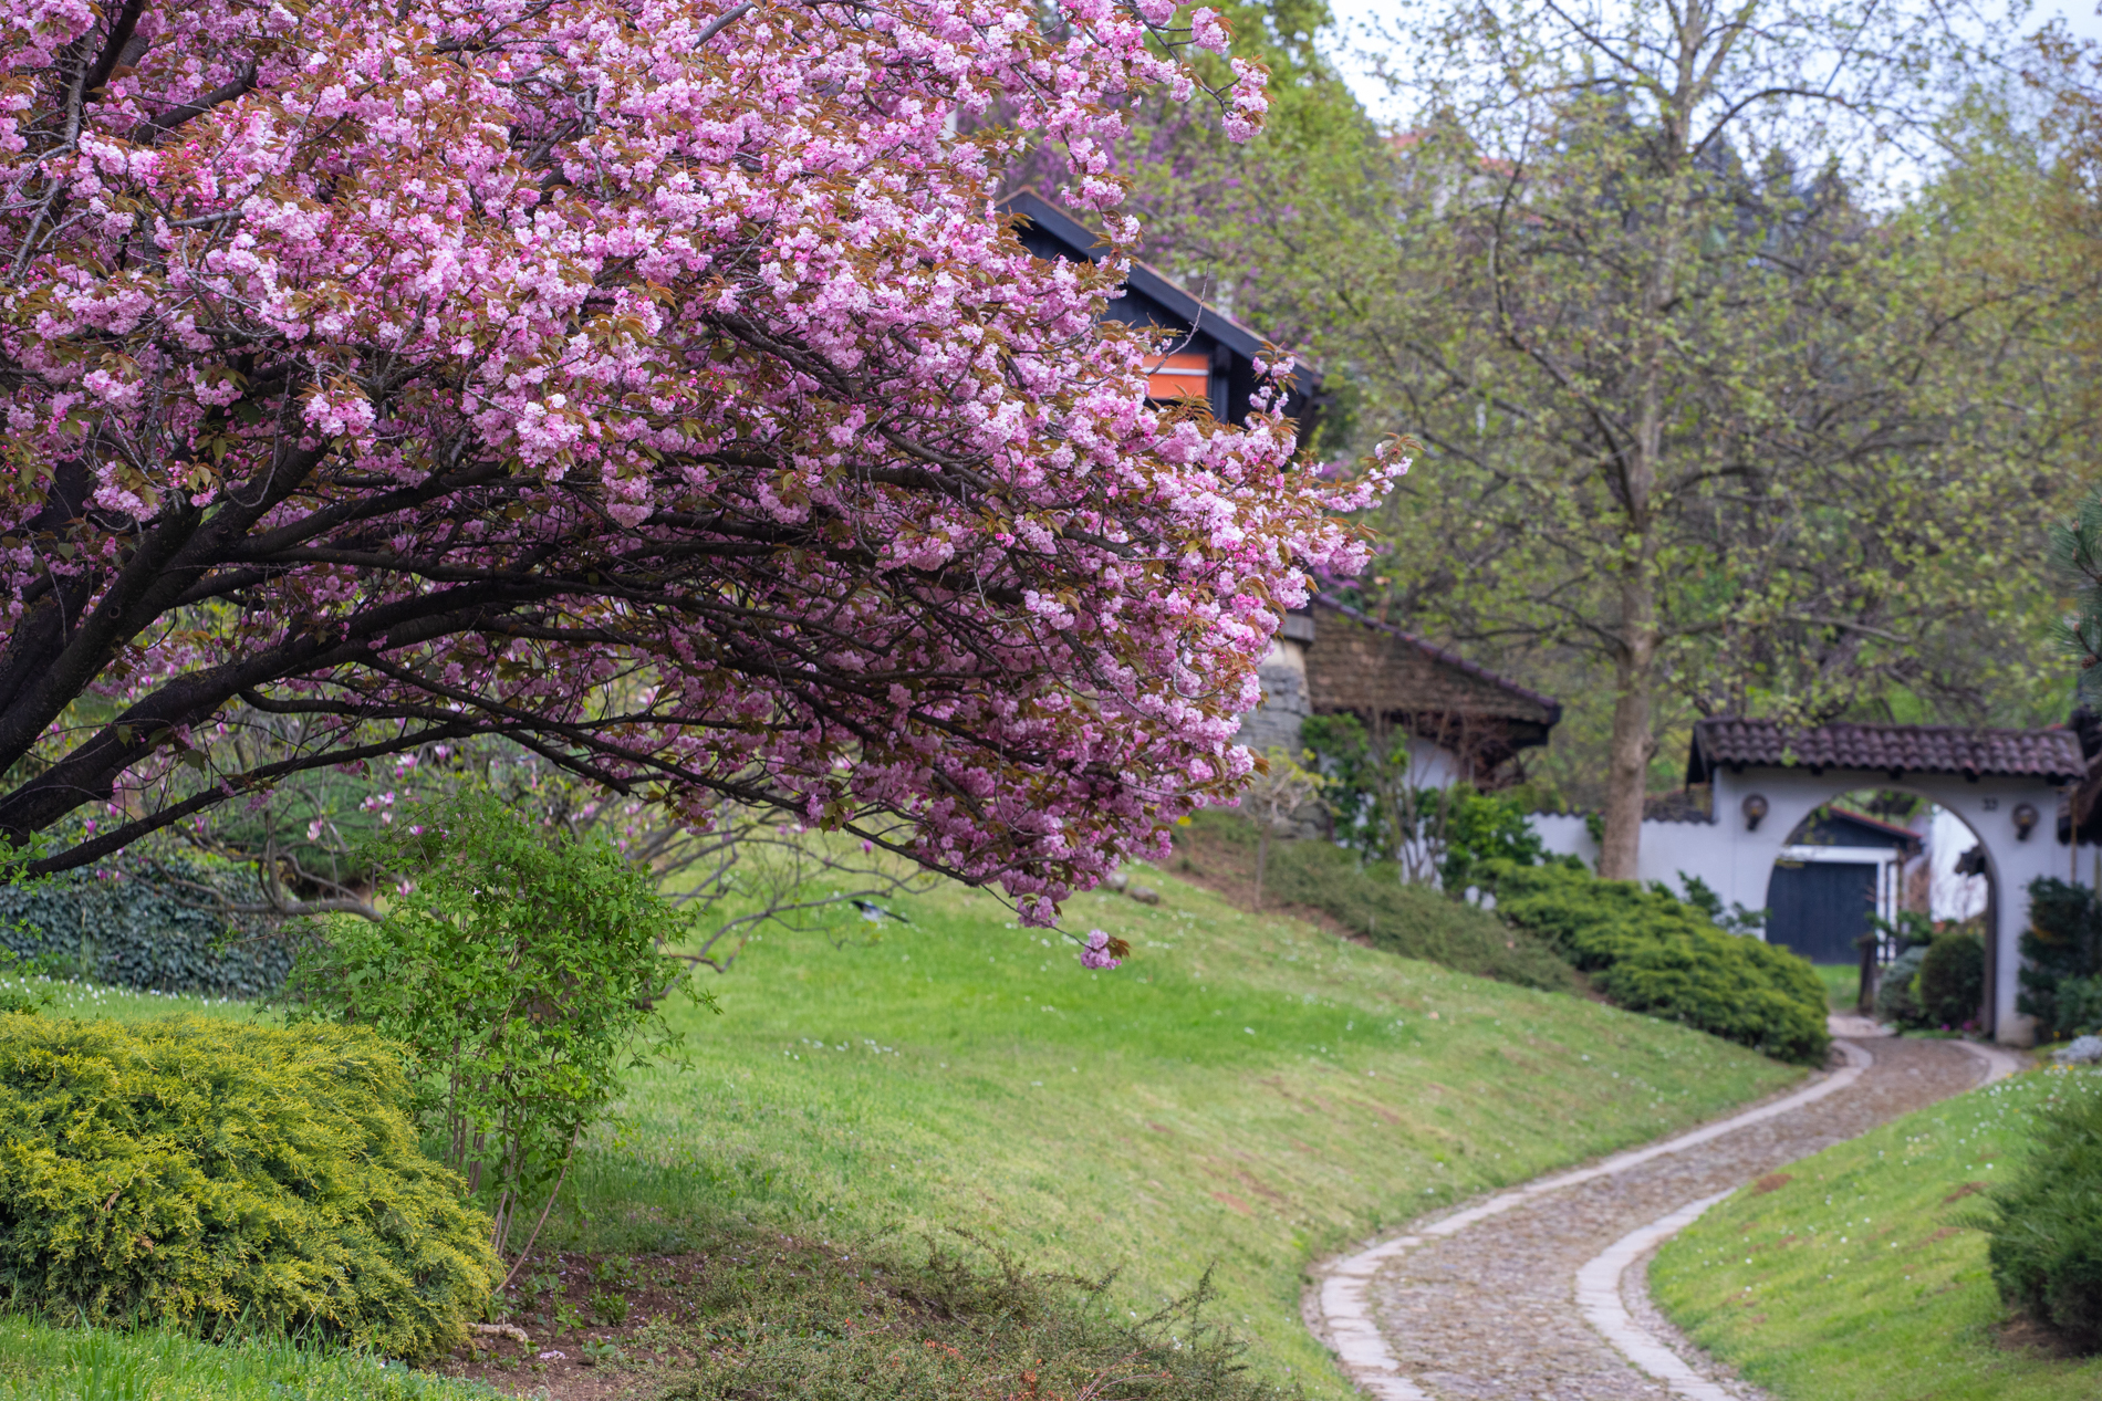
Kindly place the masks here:
<instances>
[{"instance_id":1,"label":"dark green shrub on the grass at lower right edge","mask_svg":"<svg viewBox=\"0 0 2102 1401\"><path fill-rule=\"evenodd\" d=\"M2102 1092L2087 1075L2037 1115L1991 1212L1999 1296L2068 1346L2102 1353Z\"/></svg>"}]
</instances>

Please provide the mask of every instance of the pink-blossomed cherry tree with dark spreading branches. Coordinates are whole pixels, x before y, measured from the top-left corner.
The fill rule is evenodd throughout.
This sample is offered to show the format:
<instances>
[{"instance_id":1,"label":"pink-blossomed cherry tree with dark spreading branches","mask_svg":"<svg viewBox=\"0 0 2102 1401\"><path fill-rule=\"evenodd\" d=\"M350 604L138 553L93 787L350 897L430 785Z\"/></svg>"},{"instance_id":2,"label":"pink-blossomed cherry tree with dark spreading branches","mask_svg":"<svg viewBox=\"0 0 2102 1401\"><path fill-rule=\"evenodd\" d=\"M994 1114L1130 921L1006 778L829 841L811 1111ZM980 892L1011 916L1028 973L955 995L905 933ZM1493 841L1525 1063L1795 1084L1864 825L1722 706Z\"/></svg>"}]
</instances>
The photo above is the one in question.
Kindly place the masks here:
<instances>
[{"instance_id":1,"label":"pink-blossomed cherry tree with dark spreading branches","mask_svg":"<svg viewBox=\"0 0 2102 1401\"><path fill-rule=\"evenodd\" d=\"M208 735L269 706L330 762L502 733L694 823L904 817L1034 922L1156 855L1404 466L1148 405L1118 260L992 210L1049 139L1135 237L1156 11L0 0L0 760L57 758L0 828L252 794Z\"/></svg>"}]
</instances>

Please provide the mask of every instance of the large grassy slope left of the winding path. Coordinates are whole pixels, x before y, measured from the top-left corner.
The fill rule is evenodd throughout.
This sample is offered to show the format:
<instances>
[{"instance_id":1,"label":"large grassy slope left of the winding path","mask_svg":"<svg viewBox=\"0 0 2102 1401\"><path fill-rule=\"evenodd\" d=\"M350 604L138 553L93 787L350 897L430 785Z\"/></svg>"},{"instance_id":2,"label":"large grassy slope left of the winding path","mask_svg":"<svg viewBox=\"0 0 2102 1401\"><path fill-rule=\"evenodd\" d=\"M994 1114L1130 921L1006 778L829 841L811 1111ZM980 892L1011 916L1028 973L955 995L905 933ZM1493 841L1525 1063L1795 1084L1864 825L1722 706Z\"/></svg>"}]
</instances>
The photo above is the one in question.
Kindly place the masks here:
<instances>
[{"instance_id":1,"label":"large grassy slope left of the winding path","mask_svg":"<svg viewBox=\"0 0 2102 1401\"><path fill-rule=\"evenodd\" d=\"M963 1227L1034 1267L1125 1271L1139 1309L1217 1264L1261 1365L1343 1395L1299 1321L1303 1264L1484 1187L1654 1138L1799 1071L1675 1025L1362 949L1146 874L1068 926L1087 973L988 895L902 901L832 947L767 935L681 1010L685 1069L639 1071L580 1164L578 1248L710 1220L834 1237ZM856 926L868 933L868 926Z\"/></svg>"}]
</instances>

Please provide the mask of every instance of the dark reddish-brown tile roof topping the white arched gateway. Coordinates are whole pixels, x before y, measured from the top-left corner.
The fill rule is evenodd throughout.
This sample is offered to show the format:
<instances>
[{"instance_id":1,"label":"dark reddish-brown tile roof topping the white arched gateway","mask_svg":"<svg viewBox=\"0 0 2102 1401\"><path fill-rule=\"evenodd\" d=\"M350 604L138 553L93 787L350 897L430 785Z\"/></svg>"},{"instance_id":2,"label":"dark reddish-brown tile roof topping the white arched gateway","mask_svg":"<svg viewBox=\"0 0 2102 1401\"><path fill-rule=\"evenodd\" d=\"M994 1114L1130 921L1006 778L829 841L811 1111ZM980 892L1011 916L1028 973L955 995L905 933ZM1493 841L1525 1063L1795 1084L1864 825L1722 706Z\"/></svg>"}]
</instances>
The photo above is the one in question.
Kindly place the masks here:
<instances>
[{"instance_id":1,"label":"dark reddish-brown tile roof topping the white arched gateway","mask_svg":"<svg viewBox=\"0 0 2102 1401\"><path fill-rule=\"evenodd\" d=\"M2077 779L2087 773L2070 729L1967 729L1961 725L1818 725L1715 718L1694 725L1686 779L1705 783L1715 769L1864 769L1904 773L2020 775Z\"/></svg>"}]
</instances>

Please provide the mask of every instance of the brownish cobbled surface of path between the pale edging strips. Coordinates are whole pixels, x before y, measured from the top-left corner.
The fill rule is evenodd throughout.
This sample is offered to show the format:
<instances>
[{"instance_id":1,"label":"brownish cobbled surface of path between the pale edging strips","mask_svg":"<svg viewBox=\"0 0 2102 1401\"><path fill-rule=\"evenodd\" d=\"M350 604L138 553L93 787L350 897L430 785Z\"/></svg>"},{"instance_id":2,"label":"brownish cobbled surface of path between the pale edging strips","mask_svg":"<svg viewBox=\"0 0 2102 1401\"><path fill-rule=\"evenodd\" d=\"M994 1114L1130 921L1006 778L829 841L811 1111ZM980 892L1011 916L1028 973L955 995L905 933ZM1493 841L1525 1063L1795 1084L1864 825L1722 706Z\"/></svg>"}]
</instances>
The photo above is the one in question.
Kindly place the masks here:
<instances>
[{"instance_id":1,"label":"brownish cobbled surface of path between the pale edging strips","mask_svg":"<svg viewBox=\"0 0 2102 1401\"><path fill-rule=\"evenodd\" d=\"M1986 1069L1949 1042L1854 1044L1875 1063L1835 1094L1684 1153L1543 1195L1398 1256L1373 1279L1371 1304L1402 1376L1438 1401L1669 1397L1585 1323L1574 1302L1576 1271L1688 1201L1970 1090ZM1629 1271L1629 1279L1642 1275ZM1654 1313L1635 1317L1648 1321ZM1743 1384L1732 1390L1757 1395Z\"/></svg>"}]
</instances>

